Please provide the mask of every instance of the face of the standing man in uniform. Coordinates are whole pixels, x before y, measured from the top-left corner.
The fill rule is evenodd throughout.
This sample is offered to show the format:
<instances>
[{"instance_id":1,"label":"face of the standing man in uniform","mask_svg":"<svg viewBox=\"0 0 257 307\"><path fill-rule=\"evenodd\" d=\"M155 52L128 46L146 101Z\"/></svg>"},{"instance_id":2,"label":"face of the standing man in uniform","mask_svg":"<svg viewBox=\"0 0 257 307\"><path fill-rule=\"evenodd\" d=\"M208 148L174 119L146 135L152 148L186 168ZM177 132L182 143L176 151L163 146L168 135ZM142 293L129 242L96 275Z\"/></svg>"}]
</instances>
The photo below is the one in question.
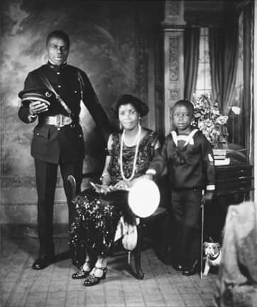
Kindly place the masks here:
<instances>
[{"instance_id":1,"label":"face of the standing man in uniform","mask_svg":"<svg viewBox=\"0 0 257 307\"><path fill-rule=\"evenodd\" d=\"M62 65L69 55L69 48L62 38L50 38L46 50L49 60L58 66Z\"/></svg>"}]
</instances>

